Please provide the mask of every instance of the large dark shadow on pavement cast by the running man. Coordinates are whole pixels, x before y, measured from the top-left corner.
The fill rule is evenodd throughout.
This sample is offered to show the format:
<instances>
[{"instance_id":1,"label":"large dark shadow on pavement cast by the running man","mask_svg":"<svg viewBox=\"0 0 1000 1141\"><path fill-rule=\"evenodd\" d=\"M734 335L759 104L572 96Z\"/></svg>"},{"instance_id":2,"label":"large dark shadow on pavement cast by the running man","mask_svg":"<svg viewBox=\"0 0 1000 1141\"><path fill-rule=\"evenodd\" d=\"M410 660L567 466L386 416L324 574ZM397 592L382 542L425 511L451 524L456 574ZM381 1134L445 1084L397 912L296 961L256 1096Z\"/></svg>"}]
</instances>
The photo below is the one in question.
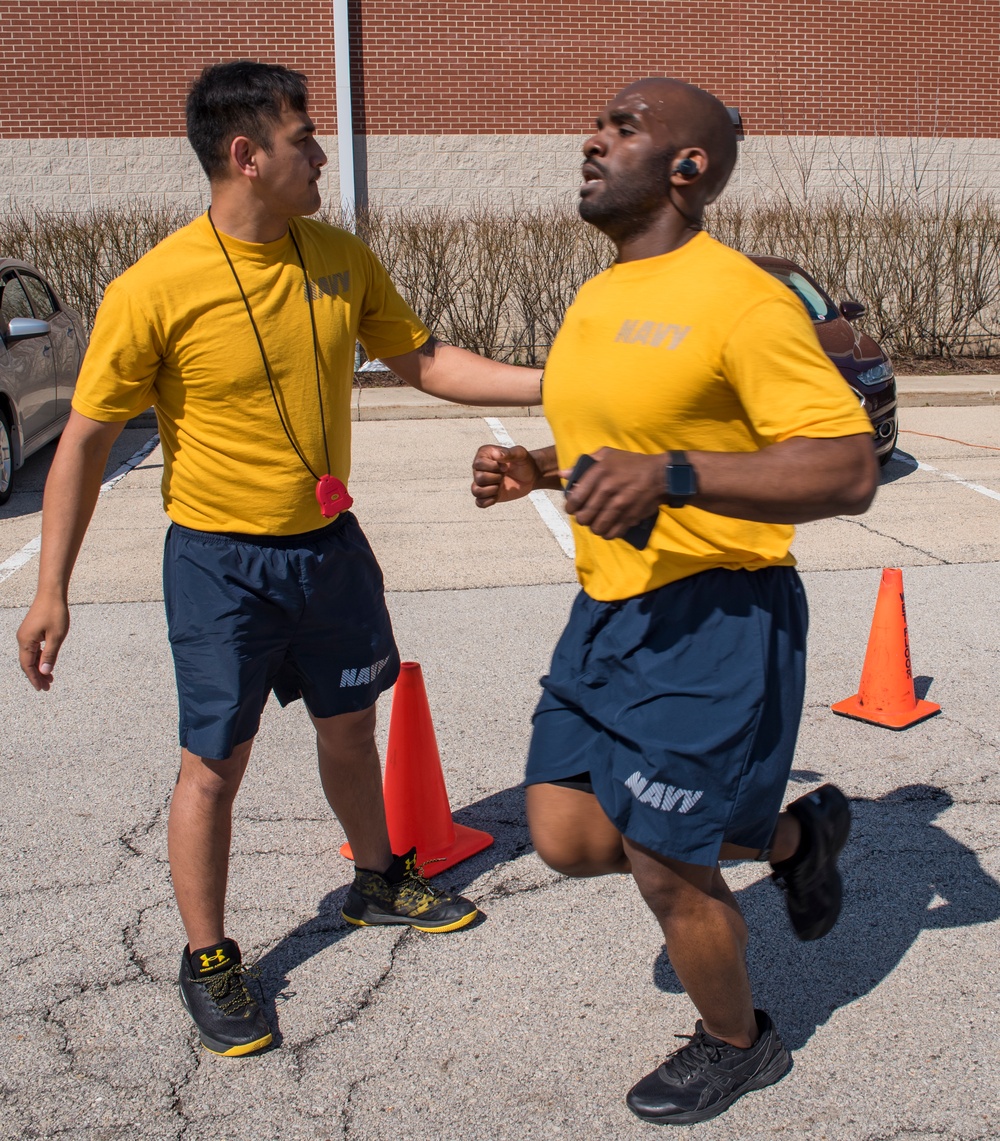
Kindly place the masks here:
<instances>
[{"instance_id":1,"label":"large dark shadow on pavement cast by the running man","mask_svg":"<svg viewBox=\"0 0 1000 1141\"><path fill-rule=\"evenodd\" d=\"M854 826L841 858L844 912L825 939L795 938L769 877L736 893L750 928L755 1001L787 1046L800 1049L838 1008L873 990L921 931L1000 917L1000 884L971 849L933 823L951 804L933 785L852 801ZM682 990L666 952L653 980L661 990Z\"/></svg>"}]
</instances>

